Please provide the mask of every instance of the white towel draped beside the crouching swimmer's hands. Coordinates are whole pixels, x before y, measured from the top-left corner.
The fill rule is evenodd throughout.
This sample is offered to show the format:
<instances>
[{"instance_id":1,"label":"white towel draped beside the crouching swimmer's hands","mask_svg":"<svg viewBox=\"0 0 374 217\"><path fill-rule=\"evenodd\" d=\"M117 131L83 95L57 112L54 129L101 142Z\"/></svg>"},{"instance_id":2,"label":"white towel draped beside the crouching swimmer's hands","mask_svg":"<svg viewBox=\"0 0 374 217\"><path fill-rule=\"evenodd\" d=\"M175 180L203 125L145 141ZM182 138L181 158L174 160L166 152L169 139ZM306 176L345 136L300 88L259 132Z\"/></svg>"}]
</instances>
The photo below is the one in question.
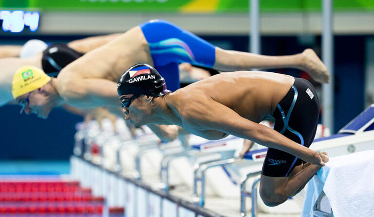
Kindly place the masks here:
<instances>
[{"instance_id":1,"label":"white towel draped beside the crouching swimmer's hands","mask_svg":"<svg viewBox=\"0 0 374 217\"><path fill-rule=\"evenodd\" d=\"M335 217L374 216L374 150L330 158L307 185L302 217L311 217L322 191Z\"/></svg>"}]
</instances>

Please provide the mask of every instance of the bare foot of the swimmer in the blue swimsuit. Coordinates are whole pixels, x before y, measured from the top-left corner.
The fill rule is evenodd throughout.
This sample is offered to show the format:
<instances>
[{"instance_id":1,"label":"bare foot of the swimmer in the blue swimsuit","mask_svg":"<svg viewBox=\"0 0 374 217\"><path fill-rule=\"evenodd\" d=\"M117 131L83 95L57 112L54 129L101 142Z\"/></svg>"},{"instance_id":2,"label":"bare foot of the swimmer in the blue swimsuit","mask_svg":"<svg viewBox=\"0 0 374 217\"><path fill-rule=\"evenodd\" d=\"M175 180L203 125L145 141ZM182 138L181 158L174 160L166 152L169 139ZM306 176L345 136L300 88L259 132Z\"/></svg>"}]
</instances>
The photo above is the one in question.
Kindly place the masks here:
<instances>
[{"instance_id":1,"label":"bare foot of the swimmer in the blue swimsuit","mask_svg":"<svg viewBox=\"0 0 374 217\"><path fill-rule=\"evenodd\" d=\"M305 49L302 53L301 69L308 72L319 83L329 83L330 73L312 49Z\"/></svg>"}]
</instances>

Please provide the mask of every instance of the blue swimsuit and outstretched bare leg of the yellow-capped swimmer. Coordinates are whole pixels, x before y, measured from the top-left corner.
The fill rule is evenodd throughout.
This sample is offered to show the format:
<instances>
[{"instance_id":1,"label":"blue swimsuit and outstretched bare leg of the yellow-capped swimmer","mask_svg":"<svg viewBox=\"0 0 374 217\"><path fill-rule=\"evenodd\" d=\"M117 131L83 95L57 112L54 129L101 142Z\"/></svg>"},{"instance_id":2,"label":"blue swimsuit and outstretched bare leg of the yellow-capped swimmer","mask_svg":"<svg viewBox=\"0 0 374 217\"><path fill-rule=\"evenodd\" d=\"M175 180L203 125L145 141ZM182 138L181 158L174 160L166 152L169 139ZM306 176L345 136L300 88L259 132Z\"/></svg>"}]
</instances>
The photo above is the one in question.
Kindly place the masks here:
<instances>
[{"instance_id":1,"label":"blue swimsuit and outstretched bare leg of the yellow-capped swimmer","mask_svg":"<svg viewBox=\"0 0 374 217\"><path fill-rule=\"evenodd\" d=\"M308 71L318 82L329 79L326 67L310 49L301 55L270 57L220 49L166 20L150 20L139 26L150 47L154 67L172 91L179 88L179 63L220 71L291 67Z\"/></svg>"}]
</instances>

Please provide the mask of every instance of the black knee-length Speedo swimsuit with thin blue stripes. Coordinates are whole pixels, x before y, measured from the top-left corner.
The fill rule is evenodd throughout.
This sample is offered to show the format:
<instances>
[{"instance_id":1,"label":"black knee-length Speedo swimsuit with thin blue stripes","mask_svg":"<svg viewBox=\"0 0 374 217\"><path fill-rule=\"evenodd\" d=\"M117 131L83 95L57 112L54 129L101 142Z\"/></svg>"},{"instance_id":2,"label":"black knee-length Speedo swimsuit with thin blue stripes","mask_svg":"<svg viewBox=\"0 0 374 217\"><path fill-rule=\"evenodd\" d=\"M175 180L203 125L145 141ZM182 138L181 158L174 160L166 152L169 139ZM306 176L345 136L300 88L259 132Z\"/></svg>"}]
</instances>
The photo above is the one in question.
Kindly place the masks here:
<instances>
[{"instance_id":1,"label":"black knee-length Speedo swimsuit with thin blue stripes","mask_svg":"<svg viewBox=\"0 0 374 217\"><path fill-rule=\"evenodd\" d=\"M287 138L309 147L316 135L319 101L311 83L295 78L286 96L273 113L274 130ZM301 160L287 152L269 148L262 166L262 175L288 177Z\"/></svg>"}]
</instances>

